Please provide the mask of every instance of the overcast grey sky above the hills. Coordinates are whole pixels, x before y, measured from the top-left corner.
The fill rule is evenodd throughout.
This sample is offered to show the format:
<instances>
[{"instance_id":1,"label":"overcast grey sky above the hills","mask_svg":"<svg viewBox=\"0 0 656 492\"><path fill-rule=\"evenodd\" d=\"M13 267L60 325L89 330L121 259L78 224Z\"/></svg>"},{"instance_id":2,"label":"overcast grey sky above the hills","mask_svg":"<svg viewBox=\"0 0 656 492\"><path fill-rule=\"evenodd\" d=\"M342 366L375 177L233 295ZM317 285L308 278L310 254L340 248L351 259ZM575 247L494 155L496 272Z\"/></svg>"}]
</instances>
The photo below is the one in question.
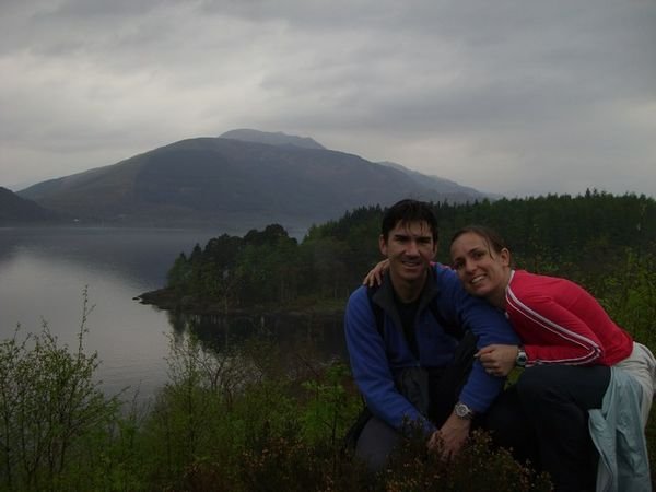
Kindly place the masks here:
<instances>
[{"instance_id":1,"label":"overcast grey sky above the hills","mask_svg":"<svg viewBox=\"0 0 656 492\"><path fill-rule=\"evenodd\" d=\"M656 0L0 0L0 186L236 128L656 197Z\"/></svg>"}]
</instances>

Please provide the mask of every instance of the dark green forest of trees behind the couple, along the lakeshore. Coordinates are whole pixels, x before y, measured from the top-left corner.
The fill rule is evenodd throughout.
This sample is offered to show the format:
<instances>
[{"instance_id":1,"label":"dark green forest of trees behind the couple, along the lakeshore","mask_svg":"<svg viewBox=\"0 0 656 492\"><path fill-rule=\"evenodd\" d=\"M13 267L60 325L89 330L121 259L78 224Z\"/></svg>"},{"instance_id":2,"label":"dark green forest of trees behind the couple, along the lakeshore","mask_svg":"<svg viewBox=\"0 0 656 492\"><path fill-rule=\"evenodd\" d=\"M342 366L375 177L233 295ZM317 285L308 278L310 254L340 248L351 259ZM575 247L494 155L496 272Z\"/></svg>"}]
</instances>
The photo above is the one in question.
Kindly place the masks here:
<instances>
[{"instance_id":1,"label":"dark green forest of trees behind the couple, along the lakeshore","mask_svg":"<svg viewBox=\"0 0 656 492\"><path fill-rule=\"evenodd\" d=\"M502 199L473 204L435 203L441 246L448 262L453 233L470 223L490 225L505 237L517 267L563 276L602 301L626 300L645 277L653 282L656 318L656 202L644 196L585 195ZM169 292L230 311L251 305L342 305L379 260L383 209L360 208L313 226L298 243L280 225L223 235L181 254L168 273ZM619 297L619 291L623 292ZM198 303L195 303L198 307Z\"/></svg>"}]
</instances>

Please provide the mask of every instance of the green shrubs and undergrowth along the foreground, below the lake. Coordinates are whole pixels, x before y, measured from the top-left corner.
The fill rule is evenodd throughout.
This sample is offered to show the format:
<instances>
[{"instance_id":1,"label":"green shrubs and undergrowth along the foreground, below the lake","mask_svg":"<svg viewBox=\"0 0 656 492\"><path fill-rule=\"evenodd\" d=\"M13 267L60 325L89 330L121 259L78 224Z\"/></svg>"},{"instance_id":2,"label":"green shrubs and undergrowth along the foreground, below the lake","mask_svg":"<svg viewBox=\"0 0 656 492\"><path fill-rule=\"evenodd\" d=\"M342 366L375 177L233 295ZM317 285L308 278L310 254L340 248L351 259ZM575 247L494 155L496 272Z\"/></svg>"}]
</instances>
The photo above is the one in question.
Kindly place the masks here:
<instances>
[{"instance_id":1,"label":"green shrubs and undergrowth along the foreground, below the lake","mask_svg":"<svg viewBox=\"0 0 656 492\"><path fill-rule=\"evenodd\" d=\"M94 383L85 332L74 350L47 326L0 345L0 490L549 490L485 435L449 464L409 442L389 469L367 473L342 447L362 405L348 368L261 338L220 354L172 339L169 382L152 408L121 410Z\"/></svg>"}]
</instances>

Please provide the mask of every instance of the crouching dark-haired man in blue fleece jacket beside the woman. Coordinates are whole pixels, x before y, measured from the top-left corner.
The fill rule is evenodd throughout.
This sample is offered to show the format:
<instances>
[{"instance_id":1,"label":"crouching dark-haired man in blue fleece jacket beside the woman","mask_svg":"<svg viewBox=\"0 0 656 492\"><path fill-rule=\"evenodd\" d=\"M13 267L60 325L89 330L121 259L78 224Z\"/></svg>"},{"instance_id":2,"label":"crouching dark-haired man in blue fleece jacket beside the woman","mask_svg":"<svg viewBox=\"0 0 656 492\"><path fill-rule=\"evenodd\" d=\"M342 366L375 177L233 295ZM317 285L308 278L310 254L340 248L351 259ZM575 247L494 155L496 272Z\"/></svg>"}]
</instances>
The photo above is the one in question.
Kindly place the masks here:
<instances>
[{"instance_id":1,"label":"crouching dark-haired man in blue fleece jacket beside the woman","mask_svg":"<svg viewBox=\"0 0 656 492\"><path fill-rule=\"evenodd\" d=\"M355 455L374 470L415 429L429 449L458 453L504 383L473 360L476 345L518 344L503 315L467 294L450 269L432 272L437 221L426 203L394 204L378 241L389 271L375 292L353 292L345 313L353 377L373 414Z\"/></svg>"}]
</instances>

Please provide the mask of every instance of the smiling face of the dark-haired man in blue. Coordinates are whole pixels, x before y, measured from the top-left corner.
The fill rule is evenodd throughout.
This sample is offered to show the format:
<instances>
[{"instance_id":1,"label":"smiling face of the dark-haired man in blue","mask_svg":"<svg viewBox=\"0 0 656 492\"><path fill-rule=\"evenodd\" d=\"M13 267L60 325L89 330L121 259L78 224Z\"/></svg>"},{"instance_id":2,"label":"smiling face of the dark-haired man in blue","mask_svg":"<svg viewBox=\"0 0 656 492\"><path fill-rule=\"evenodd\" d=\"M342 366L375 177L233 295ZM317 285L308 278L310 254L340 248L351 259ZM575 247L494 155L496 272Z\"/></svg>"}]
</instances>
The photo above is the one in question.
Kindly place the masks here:
<instances>
[{"instance_id":1,"label":"smiling face of the dark-haired man in blue","mask_svg":"<svg viewBox=\"0 0 656 492\"><path fill-rule=\"evenodd\" d=\"M389 259L393 281L423 282L437 244L424 221L399 222L389 231L387 239L380 235L380 253Z\"/></svg>"}]
</instances>

